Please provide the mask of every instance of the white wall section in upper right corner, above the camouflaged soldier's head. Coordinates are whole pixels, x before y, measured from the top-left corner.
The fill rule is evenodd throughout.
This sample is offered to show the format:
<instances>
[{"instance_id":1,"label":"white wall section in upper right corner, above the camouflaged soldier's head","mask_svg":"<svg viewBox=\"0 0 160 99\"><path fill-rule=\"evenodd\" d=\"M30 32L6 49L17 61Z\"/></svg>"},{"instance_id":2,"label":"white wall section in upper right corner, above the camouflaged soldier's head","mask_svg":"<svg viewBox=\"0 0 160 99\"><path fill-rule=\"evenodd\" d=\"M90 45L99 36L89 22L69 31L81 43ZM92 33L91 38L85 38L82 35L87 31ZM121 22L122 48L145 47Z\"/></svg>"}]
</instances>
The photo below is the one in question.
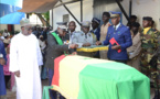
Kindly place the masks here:
<instances>
[{"instance_id":1,"label":"white wall section in upper right corner, above the camouflaged soldier's head","mask_svg":"<svg viewBox=\"0 0 160 99\"><path fill-rule=\"evenodd\" d=\"M138 16L138 21L140 24L142 24L143 16L152 16L156 22L157 29L160 30L159 0L132 0L132 14L136 14Z\"/></svg>"}]
</instances>

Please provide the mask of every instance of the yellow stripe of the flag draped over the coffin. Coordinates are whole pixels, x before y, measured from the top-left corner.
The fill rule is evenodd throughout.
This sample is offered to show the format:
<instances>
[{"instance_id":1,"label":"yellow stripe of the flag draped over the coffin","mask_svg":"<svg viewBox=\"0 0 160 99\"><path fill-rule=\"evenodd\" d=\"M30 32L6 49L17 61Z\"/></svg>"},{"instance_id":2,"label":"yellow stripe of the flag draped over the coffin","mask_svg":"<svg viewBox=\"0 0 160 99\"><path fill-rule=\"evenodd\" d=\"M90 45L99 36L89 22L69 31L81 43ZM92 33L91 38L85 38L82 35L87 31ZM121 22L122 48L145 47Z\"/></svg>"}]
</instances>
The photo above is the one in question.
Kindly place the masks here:
<instances>
[{"instance_id":1,"label":"yellow stripe of the flag draped over the coffin","mask_svg":"<svg viewBox=\"0 0 160 99\"><path fill-rule=\"evenodd\" d=\"M79 90L79 73L88 64L109 63L111 61L84 56L66 56L60 62L60 88L67 99L77 99Z\"/></svg>"}]
</instances>

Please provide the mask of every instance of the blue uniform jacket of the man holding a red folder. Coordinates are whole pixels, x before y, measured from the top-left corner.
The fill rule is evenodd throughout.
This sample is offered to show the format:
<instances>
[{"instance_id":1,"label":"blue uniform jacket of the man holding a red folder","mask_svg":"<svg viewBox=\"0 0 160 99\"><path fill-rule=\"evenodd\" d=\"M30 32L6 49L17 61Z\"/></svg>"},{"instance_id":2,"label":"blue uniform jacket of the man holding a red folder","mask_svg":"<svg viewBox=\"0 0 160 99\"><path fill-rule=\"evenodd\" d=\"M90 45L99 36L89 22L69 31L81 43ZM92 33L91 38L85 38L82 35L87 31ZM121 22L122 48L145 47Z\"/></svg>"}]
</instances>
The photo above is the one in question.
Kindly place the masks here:
<instances>
[{"instance_id":1,"label":"blue uniform jacket of the man holding a red folder","mask_svg":"<svg viewBox=\"0 0 160 99\"><path fill-rule=\"evenodd\" d=\"M103 42L104 45L109 44L108 58L111 61L127 61L127 48L132 45L131 34L129 28L124 24L118 24L119 26L110 25L108 28L106 40ZM111 44L109 43L110 38L115 38L117 43L121 46L121 52L118 53L116 50L111 50Z\"/></svg>"}]
</instances>

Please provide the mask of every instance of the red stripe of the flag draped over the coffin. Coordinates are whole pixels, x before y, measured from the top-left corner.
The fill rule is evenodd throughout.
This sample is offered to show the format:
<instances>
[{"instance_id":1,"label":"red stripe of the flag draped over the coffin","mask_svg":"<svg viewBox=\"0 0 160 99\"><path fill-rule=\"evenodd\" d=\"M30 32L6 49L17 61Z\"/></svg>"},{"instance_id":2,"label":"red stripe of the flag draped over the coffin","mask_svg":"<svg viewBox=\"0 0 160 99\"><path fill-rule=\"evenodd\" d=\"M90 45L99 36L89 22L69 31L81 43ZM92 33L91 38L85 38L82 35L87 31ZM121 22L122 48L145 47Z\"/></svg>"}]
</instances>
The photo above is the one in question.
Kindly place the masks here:
<instances>
[{"instance_id":1,"label":"red stripe of the flag draped over the coffin","mask_svg":"<svg viewBox=\"0 0 160 99\"><path fill-rule=\"evenodd\" d=\"M65 57L65 55L61 55L60 57L54 59L54 76L52 78L52 85L58 86L58 79L60 79L60 62Z\"/></svg>"}]
</instances>

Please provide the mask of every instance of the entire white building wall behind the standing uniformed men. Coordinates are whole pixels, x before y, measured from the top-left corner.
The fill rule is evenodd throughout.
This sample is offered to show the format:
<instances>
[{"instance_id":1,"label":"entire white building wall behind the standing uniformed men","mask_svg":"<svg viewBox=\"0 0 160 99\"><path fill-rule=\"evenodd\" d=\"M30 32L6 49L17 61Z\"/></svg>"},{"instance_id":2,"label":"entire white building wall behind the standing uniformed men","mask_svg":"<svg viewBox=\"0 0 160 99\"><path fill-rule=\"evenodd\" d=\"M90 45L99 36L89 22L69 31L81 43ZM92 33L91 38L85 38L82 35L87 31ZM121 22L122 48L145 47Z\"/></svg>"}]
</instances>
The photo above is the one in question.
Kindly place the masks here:
<instances>
[{"instance_id":1,"label":"entire white building wall behind the standing uniformed men","mask_svg":"<svg viewBox=\"0 0 160 99\"><path fill-rule=\"evenodd\" d=\"M90 21L93 19L94 9L93 9L93 0L85 0L83 7L83 19L84 21ZM120 2L129 15L129 0L124 0ZM81 7L79 2L66 4L66 7L71 10L71 12L81 21ZM104 8L106 11L120 11L117 3L109 3ZM97 12L99 13L99 12ZM68 12L64 9L63 6L55 8L53 11L53 24L54 30L57 28L56 22L63 21L63 14L68 14ZM160 30L160 0L132 0L132 14L138 16L138 22L142 23L142 16L152 16L157 29ZM70 21L75 21L70 15ZM122 15L122 23L127 24L127 19ZM79 31L79 26L77 24L77 31Z\"/></svg>"}]
</instances>

